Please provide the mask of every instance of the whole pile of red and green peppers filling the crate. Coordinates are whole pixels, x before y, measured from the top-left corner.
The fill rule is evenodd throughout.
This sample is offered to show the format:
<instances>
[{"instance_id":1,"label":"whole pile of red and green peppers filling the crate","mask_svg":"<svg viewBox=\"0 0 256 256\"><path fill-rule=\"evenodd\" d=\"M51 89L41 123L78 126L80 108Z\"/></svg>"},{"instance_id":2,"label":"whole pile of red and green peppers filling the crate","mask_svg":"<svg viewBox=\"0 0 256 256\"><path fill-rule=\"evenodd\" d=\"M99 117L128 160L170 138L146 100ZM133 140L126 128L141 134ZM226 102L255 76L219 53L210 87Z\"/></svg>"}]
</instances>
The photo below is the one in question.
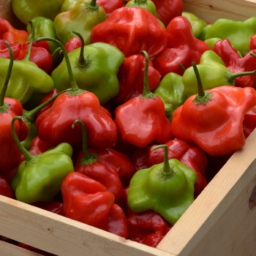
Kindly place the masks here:
<instances>
[{"instance_id":1,"label":"whole pile of red and green peppers filling the crate","mask_svg":"<svg viewBox=\"0 0 256 256\"><path fill-rule=\"evenodd\" d=\"M256 17L209 23L181 0L12 10L0 195L156 247L256 127Z\"/></svg>"}]
</instances>

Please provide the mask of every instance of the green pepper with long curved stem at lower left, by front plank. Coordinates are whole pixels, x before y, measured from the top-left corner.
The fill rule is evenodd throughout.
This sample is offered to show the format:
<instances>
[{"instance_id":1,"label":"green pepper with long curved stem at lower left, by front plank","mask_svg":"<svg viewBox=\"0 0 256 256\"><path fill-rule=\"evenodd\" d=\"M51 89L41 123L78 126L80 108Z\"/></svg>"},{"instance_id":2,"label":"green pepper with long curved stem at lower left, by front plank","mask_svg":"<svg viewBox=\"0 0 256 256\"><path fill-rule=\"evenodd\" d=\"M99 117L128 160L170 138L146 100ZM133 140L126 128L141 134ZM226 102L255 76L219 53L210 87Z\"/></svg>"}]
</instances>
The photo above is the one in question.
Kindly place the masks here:
<instances>
[{"instance_id":1,"label":"green pepper with long curved stem at lower left, by front plank","mask_svg":"<svg viewBox=\"0 0 256 256\"><path fill-rule=\"evenodd\" d=\"M61 191L61 181L74 171L72 146L61 143L42 154L32 156L20 144L14 123L21 116L12 118L12 134L20 151L26 157L12 177L11 187L16 199L23 203L50 202Z\"/></svg>"}]
</instances>

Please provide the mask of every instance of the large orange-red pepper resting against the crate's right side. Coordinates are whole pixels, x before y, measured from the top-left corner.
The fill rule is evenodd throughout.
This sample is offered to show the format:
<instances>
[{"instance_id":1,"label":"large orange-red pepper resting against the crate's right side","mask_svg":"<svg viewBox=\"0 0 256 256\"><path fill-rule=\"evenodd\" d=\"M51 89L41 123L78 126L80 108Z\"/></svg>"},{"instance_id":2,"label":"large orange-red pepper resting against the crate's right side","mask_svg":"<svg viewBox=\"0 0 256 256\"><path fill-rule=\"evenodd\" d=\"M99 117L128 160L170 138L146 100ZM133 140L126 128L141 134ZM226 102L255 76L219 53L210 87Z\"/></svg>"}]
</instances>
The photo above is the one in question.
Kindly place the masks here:
<instances>
[{"instance_id":1,"label":"large orange-red pepper resting against the crate's right side","mask_svg":"<svg viewBox=\"0 0 256 256\"><path fill-rule=\"evenodd\" d=\"M192 67L198 93L173 113L173 135L213 156L232 154L245 145L242 123L244 114L256 105L255 89L219 86L204 91L197 65Z\"/></svg>"}]
</instances>

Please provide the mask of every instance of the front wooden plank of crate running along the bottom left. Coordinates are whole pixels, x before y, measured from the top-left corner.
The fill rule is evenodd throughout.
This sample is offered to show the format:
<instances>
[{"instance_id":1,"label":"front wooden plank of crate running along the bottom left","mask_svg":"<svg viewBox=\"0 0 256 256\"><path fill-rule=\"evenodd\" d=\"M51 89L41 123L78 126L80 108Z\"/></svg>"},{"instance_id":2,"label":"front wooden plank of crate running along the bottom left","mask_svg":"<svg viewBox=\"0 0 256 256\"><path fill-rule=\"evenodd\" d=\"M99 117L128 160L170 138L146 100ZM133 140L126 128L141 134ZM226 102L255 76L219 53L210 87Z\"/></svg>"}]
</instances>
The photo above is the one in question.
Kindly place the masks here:
<instances>
[{"instance_id":1,"label":"front wooden plank of crate running along the bottom left","mask_svg":"<svg viewBox=\"0 0 256 256\"><path fill-rule=\"evenodd\" d=\"M173 256L4 196L0 227L2 236L61 256Z\"/></svg>"}]
</instances>

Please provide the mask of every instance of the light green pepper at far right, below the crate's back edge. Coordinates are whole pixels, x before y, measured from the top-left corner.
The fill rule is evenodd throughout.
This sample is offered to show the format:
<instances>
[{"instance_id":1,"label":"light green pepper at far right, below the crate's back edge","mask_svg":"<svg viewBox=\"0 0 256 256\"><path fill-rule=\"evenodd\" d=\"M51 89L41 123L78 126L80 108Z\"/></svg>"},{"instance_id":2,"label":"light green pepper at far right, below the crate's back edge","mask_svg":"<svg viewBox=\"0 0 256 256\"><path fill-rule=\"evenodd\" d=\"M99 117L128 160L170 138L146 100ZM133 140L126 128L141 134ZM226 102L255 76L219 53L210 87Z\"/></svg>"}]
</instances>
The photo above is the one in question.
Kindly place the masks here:
<instances>
[{"instance_id":1,"label":"light green pepper at far right, below the crate's back edge","mask_svg":"<svg viewBox=\"0 0 256 256\"><path fill-rule=\"evenodd\" d=\"M231 45L241 52L242 56L249 52L250 37L256 34L256 17L244 21L229 19L216 20L206 32L206 39L219 37L229 39Z\"/></svg>"}]
</instances>

